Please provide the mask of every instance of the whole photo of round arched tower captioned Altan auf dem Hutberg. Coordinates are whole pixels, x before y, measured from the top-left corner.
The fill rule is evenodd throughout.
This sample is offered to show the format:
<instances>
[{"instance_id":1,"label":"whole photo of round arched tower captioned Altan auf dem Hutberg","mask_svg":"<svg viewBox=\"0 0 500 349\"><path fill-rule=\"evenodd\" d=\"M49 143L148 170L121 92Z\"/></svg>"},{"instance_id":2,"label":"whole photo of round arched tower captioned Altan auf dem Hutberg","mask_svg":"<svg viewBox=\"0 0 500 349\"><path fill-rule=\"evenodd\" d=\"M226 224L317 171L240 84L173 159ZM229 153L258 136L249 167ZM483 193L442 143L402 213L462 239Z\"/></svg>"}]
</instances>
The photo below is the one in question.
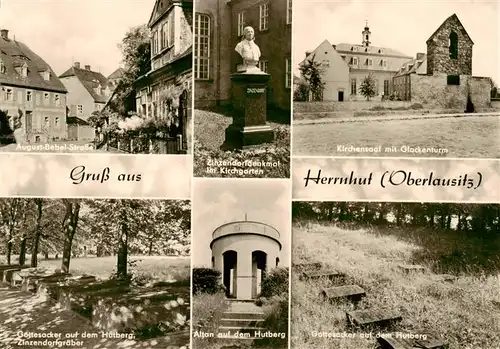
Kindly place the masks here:
<instances>
[{"instance_id":1,"label":"whole photo of round arched tower captioned Altan auf dem Hutberg","mask_svg":"<svg viewBox=\"0 0 500 349\"><path fill-rule=\"evenodd\" d=\"M289 189L286 180L195 181L193 349L288 348Z\"/></svg>"}]
</instances>

